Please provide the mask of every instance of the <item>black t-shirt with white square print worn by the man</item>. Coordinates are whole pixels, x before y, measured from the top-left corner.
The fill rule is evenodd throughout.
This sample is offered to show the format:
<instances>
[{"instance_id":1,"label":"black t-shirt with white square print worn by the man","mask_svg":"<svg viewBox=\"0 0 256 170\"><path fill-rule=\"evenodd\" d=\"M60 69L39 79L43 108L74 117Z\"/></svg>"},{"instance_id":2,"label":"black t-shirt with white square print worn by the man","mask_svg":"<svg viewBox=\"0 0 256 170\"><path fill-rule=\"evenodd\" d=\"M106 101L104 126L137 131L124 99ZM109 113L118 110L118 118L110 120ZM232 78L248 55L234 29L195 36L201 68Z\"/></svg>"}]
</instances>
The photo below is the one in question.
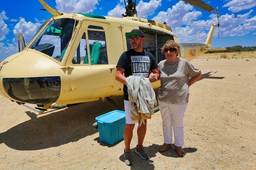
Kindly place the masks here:
<instances>
[{"instance_id":1,"label":"black t-shirt with white square print worn by the man","mask_svg":"<svg viewBox=\"0 0 256 170\"><path fill-rule=\"evenodd\" d=\"M136 52L130 49L123 52L116 67L121 67L125 70L125 77L129 77L130 75L148 77L149 72L158 66L154 56L150 52L145 50ZM126 85L123 85L123 98L124 100L129 100Z\"/></svg>"}]
</instances>

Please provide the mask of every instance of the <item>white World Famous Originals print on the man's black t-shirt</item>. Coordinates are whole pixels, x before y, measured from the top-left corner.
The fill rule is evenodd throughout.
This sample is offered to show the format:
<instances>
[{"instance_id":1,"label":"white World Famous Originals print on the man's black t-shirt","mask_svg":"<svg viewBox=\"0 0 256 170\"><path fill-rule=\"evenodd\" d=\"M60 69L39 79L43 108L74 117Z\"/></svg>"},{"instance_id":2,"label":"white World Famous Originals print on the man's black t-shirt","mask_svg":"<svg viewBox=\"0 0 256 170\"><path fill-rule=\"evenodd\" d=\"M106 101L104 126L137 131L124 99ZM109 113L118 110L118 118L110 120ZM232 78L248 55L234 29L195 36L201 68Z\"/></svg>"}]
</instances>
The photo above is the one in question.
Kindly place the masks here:
<instances>
[{"instance_id":1,"label":"white World Famous Originals print on the man's black t-shirt","mask_svg":"<svg viewBox=\"0 0 256 170\"><path fill-rule=\"evenodd\" d=\"M150 59L148 56L131 56L132 75L148 77Z\"/></svg>"}]
</instances>

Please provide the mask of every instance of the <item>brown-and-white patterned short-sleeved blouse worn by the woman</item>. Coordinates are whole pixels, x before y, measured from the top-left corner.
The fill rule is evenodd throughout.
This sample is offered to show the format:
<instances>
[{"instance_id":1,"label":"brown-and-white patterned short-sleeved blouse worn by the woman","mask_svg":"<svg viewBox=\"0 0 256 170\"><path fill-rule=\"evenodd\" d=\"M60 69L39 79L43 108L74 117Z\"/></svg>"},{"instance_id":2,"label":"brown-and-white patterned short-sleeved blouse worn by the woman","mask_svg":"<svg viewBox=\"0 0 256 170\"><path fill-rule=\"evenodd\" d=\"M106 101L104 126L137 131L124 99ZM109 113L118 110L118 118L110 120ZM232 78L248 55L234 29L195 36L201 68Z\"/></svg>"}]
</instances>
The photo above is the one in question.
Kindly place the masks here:
<instances>
[{"instance_id":1,"label":"brown-and-white patterned short-sleeved blouse worn by the woman","mask_svg":"<svg viewBox=\"0 0 256 170\"><path fill-rule=\"evenodd\" d=\"M158 100L169 104L188 103L189 76L198 75L201 69L182 58L175 63L162 60L158 63L158 69L161 81Z\"/></svg>"}]
</instances>

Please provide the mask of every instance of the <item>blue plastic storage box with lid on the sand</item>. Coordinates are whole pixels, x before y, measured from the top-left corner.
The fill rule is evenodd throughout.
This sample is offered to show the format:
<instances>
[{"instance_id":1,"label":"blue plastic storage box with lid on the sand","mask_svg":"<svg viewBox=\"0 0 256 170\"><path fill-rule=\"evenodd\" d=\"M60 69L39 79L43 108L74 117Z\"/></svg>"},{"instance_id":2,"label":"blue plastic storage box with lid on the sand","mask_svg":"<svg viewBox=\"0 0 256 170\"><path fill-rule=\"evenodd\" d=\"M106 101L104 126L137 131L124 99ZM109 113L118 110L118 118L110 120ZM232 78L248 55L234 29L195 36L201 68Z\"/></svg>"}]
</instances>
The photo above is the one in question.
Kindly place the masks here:
<instances>
[{"instance_id":1,"label":"blue plastic storage box with lid on the sand","mask_svg":"<svg viewBox=\"0 0 256 170\"><path fill-rule=\"evenodd\" d=\"M95 118L99 129L99 140L113 145L123 140L125 128L125 112L114 110Z\"/></svg>"}]
</instances>

